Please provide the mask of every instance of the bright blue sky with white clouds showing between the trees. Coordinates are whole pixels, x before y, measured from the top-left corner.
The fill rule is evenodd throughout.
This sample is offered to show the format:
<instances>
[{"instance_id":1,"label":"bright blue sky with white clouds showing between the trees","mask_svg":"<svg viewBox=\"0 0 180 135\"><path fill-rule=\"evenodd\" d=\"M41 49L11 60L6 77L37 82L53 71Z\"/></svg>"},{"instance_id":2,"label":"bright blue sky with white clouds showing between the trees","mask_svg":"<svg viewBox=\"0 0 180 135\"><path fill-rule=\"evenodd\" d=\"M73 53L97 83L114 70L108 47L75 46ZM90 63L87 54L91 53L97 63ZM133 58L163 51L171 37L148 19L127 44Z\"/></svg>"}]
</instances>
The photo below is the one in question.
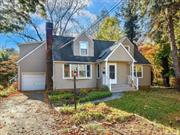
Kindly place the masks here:
<instances>
[{"instance_id":1,"label":"bright blue sky with white clouds showing between the trees","mask_svg":"<svg viewBox=\"0 0 180 135\"><path fill-rule=\"evenodd\" d=\"M89 3L85 9L82 10L79 17L84 28L90 26L96 21L97 16L103 9L111 9L119 0L89 0ZM112 12L113 14L114 12ZM45 21L39 18L37 15L32 15L33 21L38 24L38 29L41 33L45 33ZM27 33L31 33L32 29L29 26L25 27ZM44 36L44 34L43 34ZM18 44L25 42L21 38L18 38L14 34L0 33L0 48L15 48L18 50Z\"/></svg>"}]
</instances>

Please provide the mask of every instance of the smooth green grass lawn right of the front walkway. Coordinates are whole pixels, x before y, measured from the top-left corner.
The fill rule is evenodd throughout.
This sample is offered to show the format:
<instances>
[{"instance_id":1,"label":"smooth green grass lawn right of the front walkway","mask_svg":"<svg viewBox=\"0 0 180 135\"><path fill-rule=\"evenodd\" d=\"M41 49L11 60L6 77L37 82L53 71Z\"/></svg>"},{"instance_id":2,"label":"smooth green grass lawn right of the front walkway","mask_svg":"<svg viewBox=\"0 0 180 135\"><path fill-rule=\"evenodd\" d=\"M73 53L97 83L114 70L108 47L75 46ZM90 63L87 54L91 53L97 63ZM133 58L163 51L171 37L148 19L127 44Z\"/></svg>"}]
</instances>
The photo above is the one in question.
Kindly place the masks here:
<instances>
[{"instance_id":1,"label":"smooth green grass lawn right of the front walkway","mask_svg":"<svg viewBox=\"0 0 180 135\"><path fill-rule=\"evenodd\" d=\"M126 92L107 104L180 129L180 92L174 89Z\"/></svg>"}]
</instances>

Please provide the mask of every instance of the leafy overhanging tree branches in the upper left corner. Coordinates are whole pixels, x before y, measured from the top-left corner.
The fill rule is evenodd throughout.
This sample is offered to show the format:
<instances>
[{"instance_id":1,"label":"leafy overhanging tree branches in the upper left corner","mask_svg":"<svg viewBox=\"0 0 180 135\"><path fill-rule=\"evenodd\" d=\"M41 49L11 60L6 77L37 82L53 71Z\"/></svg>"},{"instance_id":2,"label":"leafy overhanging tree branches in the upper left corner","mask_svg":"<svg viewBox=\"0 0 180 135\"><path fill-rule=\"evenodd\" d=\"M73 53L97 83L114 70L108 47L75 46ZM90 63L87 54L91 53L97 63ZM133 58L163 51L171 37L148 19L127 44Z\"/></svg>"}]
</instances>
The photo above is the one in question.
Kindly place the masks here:
<instances>
[{"instance_id":1,"label":"leafy overhanging tree branches in the upper left corner","mask_svg":"<svg viewBox=\"0 0 180 135\"><path fill-rule=\"evenodd\" d=\"M0 33L22 30L30 20L30 14L45 15L45 0L1 0Z\"/></svg>"}]
</instances>

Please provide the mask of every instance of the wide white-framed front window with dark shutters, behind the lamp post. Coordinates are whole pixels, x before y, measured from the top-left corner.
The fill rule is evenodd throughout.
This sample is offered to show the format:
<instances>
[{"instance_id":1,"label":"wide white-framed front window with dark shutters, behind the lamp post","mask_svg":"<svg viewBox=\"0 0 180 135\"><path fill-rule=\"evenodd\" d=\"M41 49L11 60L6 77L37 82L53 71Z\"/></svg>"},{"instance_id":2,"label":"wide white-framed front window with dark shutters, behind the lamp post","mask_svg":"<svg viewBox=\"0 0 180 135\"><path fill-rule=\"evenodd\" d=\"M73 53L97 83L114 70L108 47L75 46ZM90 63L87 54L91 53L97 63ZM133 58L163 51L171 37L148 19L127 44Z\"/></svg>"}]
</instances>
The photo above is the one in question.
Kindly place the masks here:
<instances>
[{"instance_id":1,"label":"wide white-framed front window with dark shutters, behind the lamp post","mask_svg":"<svg viewBox=\"0 0 180 135\"><path fill-rule=\"evenodd\" d=\"M77 79L91 78L90 64L64 64L64 78L73 79L74 72L77 72Z\"/></svg>"}]
</instances>

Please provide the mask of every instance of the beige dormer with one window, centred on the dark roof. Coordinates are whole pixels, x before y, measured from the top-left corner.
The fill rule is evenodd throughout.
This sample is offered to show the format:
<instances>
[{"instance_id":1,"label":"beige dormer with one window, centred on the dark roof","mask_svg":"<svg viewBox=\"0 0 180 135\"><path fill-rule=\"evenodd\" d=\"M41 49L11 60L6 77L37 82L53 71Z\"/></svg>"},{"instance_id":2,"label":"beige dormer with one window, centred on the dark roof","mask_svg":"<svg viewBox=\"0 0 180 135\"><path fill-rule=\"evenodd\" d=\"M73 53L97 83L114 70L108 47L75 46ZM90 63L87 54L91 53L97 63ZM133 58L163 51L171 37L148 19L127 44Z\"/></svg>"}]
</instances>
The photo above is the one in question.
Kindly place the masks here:
<instances>
[{"instance_id":1,"label":"beige dormer with one window, centred on the dark roof","mask_svg":"<svg viewBox=\"0 0 180 135\"><path fill-rule=\"evenodd\" d=\"M74 56L94 56L94 41L87 34L82 34L74 39Z\"/></svg>"}]
</instances>

